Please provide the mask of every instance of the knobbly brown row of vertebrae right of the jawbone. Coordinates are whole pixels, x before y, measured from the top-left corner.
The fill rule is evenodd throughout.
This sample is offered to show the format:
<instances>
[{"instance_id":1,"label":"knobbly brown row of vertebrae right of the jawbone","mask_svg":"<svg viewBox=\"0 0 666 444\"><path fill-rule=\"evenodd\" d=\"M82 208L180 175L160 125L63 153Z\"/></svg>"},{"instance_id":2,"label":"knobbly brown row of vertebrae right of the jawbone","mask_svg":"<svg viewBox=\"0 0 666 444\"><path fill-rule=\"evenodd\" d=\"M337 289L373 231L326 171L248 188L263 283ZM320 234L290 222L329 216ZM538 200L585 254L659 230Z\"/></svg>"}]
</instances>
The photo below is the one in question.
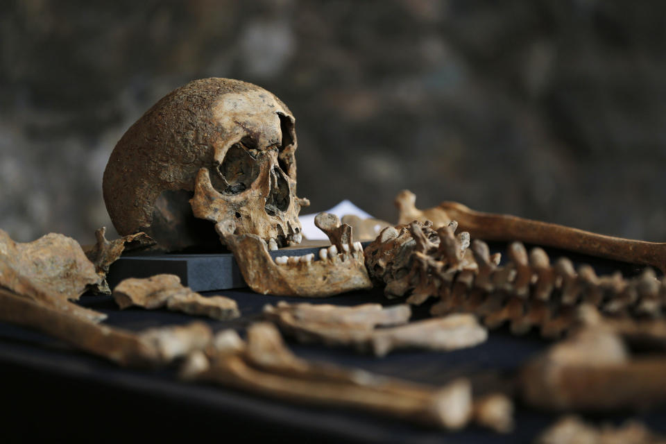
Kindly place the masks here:
<instances>
[{"instance_id":1,"label":"knobbly brown row of vertebrae right of the jawbone","mask_svg":"<svg viewBox=\"0 0 666 444\"><path fill-rule=\"evenodd\" d=\"M620 273L597 276L590 266L574 269L566 258L551 263L541 248L528 252L519 242L509 246L509 260L499 266L499 256L490 255L484 242L466 248L469 240L456 237L454 225L437 231L416 221L398 225L366 247L368 271L386 284L386 296L411 293L407 302L416 305L436 297L435 316L469 312L488 327L509 323L515 334L540 327L548 337L574 327L583 303L617 318L664 317L666 280L651 268L626 279Z\"/></svg>"}]
</instances>

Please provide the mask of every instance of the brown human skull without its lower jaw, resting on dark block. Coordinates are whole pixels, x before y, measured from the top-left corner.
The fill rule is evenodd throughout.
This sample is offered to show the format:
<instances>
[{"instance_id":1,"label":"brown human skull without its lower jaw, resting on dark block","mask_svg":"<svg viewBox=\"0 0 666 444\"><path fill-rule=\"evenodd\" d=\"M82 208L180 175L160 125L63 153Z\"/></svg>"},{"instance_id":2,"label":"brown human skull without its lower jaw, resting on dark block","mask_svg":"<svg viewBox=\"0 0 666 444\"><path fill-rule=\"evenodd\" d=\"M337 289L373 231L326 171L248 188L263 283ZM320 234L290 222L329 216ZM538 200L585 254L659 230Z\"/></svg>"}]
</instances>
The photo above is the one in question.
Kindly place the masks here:
<instances>
[{"instance_id":1,"label":"brown human skull without its lower jaw, resting on dark block","mask_svg":"<svg viewBox=\"0 0 666 444\"><path fill-rule=\"evenodd\" d=\"M103 194L121 235L166 250L209 247L208 219L233 221L272 248L300 242L294 118L270 92L239 80L194 80L164 96L123 135ZM201 195L193 198L195 188ZM196 219L198 218L198 219ZM218 244L219 245L219 244Z\"/></svg>"}]
</instances>

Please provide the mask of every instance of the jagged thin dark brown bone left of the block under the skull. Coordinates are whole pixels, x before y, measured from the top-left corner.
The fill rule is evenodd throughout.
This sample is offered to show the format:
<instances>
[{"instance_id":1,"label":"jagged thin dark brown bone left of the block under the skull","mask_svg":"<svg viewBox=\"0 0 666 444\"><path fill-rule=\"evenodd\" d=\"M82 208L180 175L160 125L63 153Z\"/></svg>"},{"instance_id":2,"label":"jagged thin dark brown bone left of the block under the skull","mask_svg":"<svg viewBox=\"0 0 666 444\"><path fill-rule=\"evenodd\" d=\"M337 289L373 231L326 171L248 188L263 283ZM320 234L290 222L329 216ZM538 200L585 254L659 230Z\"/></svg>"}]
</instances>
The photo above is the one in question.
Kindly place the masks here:
<instances>
[{"instance_id":1,"label":"jagged thin dark brown bone left of the block under the skull","mask_svg":"<svg viewBox=\"0 0 666 444\"><path fill-rule=\"evenodd\" d=\"M102 279L101 284L96 288L96 292L102 294L111 294L109 284L106 282L106 275L109 273L109 267L116 262L125 251L144 250L155 245L155 241L146 233L129 234L108 241L106 239L106 227L95 231L97 243L94 246L85 248L86 257L95 266L95 271Z\"/></svg>"}]
</instances>

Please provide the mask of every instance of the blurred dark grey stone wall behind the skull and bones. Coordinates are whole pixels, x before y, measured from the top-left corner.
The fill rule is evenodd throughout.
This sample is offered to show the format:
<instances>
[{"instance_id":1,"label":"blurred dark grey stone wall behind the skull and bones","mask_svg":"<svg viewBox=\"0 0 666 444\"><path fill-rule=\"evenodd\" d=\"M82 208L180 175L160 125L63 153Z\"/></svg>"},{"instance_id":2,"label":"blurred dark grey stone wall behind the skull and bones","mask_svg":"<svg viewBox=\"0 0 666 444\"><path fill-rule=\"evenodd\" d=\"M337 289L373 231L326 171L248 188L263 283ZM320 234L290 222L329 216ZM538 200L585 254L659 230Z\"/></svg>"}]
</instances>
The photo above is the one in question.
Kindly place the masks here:
<instances>
[{"instance_id":1,"label":"blurred dark grey stone wall behind the skull and bones","mask_svg":"<svg viewBox=\"0 0 666 444\"><path fill-rule=\"evenodd\" d=\"M393 221L408 188L666 241L660 1L4 1L0 56L0 228L19 241L110 226L114 144L207 76L289 105L309 212L350 198Z\"/></svg>"}]
</instances>

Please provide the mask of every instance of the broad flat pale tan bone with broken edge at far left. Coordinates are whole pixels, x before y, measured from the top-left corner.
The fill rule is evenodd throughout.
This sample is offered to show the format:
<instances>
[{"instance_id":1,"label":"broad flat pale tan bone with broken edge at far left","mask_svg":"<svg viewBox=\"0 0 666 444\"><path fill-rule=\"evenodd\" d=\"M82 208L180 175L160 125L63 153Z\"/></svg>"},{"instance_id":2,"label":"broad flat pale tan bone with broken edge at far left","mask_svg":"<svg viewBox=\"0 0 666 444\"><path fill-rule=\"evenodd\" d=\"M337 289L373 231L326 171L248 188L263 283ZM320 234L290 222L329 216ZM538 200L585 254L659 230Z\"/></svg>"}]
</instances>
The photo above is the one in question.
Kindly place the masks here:
<instances>
[{"instance_id":1,"label":"broad flat pale tan bone with broken edge at far left","mask_svg":"<svg viewBox=\"0 0 666 444\"><path fill-rule=\"evenodd\" d=\"M94 265L74 239L51 233L21 244L0 230L0 287L46 307L99 322L105 314L69 302L99 284L101 278Z\"/></svg>"}]
</instances>

